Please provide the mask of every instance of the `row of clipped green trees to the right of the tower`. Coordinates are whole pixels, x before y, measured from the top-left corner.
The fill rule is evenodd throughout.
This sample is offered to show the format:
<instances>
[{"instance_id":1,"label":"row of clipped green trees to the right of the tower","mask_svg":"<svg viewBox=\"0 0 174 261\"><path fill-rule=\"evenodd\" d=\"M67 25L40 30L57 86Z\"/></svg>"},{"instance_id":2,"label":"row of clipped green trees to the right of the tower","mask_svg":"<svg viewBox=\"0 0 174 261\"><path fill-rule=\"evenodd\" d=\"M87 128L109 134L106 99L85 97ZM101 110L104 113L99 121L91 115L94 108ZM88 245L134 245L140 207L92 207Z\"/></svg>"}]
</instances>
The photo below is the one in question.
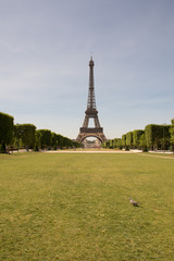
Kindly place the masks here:
<instances>
[{"instance_id":1,"label":"row of clipped green trees to the right of the tower","mask_svg":"<svg viewBox=\"0 0 174 261\"><path fill-rule=\"evenodd\" d=\"M103 148L174 150L174 119L171 125L149 124L145 129L136 129L102 144Z\"/></svg>"}]
</instances>

